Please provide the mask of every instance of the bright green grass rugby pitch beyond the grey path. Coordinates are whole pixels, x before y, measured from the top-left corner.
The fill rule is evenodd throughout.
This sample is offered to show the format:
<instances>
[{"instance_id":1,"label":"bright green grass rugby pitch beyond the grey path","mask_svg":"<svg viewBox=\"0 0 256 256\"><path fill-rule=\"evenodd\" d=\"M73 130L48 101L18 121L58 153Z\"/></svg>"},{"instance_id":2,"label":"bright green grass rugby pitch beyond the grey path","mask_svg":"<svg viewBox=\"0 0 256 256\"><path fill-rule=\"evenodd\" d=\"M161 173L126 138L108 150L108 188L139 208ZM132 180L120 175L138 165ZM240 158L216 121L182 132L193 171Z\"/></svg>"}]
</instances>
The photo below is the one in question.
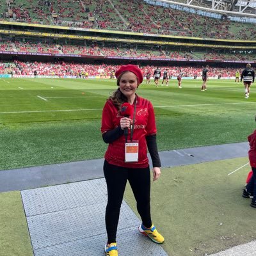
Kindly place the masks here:
<instances>
[{"instance_id":1,"label":"bright green grass rugby pitch beyond the grey path","mask_svg":"<svg viewBox=\"0 0 256 256\"><path fill-rule=\"evenodd\" d=\"M242 83L177 80L156 88L141 84L151 100L159 150L246 141L254 127L256 93L244 99ZM0 170L102 158L102 107L116 89L110 79L0 79Z\"/></svg>"}]
</instances>

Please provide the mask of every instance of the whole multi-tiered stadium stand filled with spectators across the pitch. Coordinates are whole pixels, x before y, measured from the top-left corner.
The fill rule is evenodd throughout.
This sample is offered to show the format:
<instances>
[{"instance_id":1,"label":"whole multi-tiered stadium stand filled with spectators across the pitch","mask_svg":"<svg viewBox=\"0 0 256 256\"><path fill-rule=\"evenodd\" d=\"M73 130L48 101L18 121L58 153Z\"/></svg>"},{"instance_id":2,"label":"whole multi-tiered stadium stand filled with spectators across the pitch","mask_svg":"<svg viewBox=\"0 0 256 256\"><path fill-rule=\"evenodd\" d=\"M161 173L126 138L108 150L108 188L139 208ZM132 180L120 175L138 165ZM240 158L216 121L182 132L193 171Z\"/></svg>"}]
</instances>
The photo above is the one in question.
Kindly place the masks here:
<instances>
[{"instance_id":1,"label":"whole multi-tiered stadium stand filled with spectators across the pitch","mask_svg":"<svg viewBox=\"0 0 256 256\"><path fill-rule=\"evenodd\" d=\"M177 6L148 0L6 0L0 5L0 60L15 67L1 68L1 74L31 75L36 67L41 75L77 76L90 67L92 76L110 76L116 66L134 63L173 67L173 76L182 68L184 76L194 77L207 63L211 76L232 77L233 69L255 62L253 23ZM63 69L63 63L72 67Z\"/></svg>"}]
</instances>

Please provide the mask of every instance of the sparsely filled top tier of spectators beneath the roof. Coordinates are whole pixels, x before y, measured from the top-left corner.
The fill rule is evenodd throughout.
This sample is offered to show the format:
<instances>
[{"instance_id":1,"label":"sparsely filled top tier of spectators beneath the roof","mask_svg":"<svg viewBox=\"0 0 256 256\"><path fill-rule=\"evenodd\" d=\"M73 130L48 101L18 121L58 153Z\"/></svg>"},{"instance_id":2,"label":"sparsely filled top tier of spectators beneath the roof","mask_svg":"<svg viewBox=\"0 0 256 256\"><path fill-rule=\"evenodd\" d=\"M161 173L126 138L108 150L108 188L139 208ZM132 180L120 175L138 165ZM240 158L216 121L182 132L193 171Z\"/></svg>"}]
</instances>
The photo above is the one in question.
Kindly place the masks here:
<instances>
[{"instance_id":1,"label":"sparsely filled top tier of spectators beneath the roof","mask_svg":"<svg viewBox=\"0 0 256 256\"><path fill-rule=\"evenodd\" d=\"M3 20L80 28L235 40L254 40L256 33L253 24L203 17L143 0L6 0L3 9Z\"/></svg>"}]
</instances>

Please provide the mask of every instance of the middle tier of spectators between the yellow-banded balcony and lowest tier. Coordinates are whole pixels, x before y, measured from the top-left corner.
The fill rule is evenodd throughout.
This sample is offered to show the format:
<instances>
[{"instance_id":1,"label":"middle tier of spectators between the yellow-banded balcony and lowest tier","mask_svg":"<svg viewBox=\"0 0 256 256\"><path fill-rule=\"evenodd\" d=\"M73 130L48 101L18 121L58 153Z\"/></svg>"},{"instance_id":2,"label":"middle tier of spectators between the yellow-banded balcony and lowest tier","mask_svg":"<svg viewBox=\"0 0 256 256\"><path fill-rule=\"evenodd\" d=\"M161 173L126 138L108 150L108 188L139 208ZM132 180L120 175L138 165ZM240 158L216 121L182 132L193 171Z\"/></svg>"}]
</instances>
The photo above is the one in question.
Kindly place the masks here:
<instances>
[{"instance_id":1,"label":"middle tier of spectators between the yellow-banded balcony and lowest tier","mask_svg":"<svg viewBox=\"0 0 256 256\"><path fill-rule=\"evenodd\" d=\"M215 60L215 61L254 61L256 51L245 52L219 52L218 49L211 49L207 52L172 51L154 47L153 49L136 47L136 45L102 46L96 43L88 45L74 44L52 44L43 42L22 42L10 40L0 41L0 51L31 52L48 54L79 54L92 56L119 56L132 58L172 58L174 60Z\"/></svg>"}]
</instances>

